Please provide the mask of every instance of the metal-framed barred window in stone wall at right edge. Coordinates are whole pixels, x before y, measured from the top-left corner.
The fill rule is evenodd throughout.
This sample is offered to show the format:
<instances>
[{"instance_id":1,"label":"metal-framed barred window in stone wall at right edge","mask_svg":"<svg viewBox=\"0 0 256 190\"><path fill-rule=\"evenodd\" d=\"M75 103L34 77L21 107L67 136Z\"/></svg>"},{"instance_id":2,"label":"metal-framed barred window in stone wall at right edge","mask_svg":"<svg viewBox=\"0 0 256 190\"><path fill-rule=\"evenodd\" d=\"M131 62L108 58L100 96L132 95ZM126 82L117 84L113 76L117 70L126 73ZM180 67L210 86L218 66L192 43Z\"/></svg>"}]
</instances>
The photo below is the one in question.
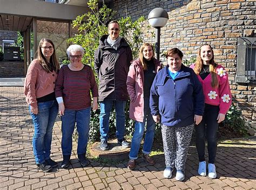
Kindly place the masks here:
<instances>
[{"instance_id":1,"label":"metal-framed barred window in stone wall at right edge","mask_svg":"<svg viewBox=\"0 0 256 190\"><path fill-rule=\"evenodd\" d=\"M239 38L235 82L256 82L256 38Z\"/></svg>"}]
</instances>

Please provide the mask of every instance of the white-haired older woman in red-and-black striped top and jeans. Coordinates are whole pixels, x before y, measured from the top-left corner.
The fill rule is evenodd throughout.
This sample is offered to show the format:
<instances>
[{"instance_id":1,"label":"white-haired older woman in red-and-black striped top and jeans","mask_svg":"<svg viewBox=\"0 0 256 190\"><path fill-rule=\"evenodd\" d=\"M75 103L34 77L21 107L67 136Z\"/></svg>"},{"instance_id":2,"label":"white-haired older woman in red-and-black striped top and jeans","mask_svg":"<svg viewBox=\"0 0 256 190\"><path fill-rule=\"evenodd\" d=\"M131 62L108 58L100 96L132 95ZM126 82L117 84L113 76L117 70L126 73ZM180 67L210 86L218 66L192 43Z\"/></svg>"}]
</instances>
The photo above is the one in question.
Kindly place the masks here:
<instances>
[{"instance_id":1,"label":"white-haired older woman in red-and-black striped top and jeans","mask_svg":"<svg viewBox=\"0 0 256 190\"><path fill-rule=\"evenodd\" d=\"M59 114L62 116L62 168L66 168L70 164L75 123L78 131L78 160L82 166L89 164L86 159L86 147L90 130L90 92L93 97L92 109L98 108L98 87L95 75L90 66L82 64L83 47L71 45L66 53L70 64L64 65L60 69L55 90Z\"/></svg>"}]
</instances>

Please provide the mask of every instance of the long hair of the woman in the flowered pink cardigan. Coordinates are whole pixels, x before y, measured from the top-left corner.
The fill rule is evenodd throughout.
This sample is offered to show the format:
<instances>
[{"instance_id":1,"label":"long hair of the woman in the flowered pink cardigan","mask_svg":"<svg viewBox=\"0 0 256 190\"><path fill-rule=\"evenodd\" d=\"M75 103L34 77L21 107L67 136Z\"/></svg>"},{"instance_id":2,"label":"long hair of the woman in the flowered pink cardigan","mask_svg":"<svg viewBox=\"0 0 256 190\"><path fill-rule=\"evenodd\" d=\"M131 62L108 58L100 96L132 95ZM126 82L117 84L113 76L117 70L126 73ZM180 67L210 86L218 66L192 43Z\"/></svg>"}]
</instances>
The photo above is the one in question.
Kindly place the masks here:
<instances>
[{"instance_id":1,"label":"long hair of the woman in the flowered pink cardigan","mask_svg":"<svg viewBox=\"0 0 256 190\"><path fill-rule=\"evenodd\" d=\"M217 73L216 73L216 67L218 66L218 64L216 64L214 61L214 54L213 54L212 46L210 46L209 44L204 44L204 45L200 46L200 48L198 50L198 54L197 54L197 61L196 61L196 64L194 65L194 72L198 75L201 72L201 69L203 69L203 61L201 59L201 48L203 46L209 46L212 51L212 59L209 61L209 64L210 64L209 71L212 76L211 85L213 88L215 88L215 87L219 86L219 81L218 81L218 77L217 77Z\"/></svg>"}]
</instances>

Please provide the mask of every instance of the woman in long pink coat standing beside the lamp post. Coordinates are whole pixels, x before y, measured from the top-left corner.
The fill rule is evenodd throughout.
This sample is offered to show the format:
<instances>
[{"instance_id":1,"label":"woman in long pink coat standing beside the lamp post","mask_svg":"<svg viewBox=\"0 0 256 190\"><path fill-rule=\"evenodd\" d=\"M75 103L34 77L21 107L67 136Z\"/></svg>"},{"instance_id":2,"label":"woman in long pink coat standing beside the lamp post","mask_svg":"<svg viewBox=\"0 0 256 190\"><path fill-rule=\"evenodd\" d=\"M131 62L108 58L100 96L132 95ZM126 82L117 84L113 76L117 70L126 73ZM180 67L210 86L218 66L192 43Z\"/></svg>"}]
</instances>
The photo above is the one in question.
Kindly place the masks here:
<instances>
[{"instance_id":1,"label":"woman in long pink coat standing beside the lamp post","mask_svg":"<svg viewBox=\"0 0 256 190\"><path fill-rule=\"evenodd\" d=\"M146 135L143 145L143 158L149 165L154 165L154 160L150 158L154 129L156 124L151 115L149 107L150 88L154 77L160 69L160 62L154 58L153 46L144 43L139 50L139 59L132 62L128 77L127 91L130 96L130 118L135 121L135 131L132 137L130 160L127 167L130 170L135 168L135 160L138 158L140 142L144 135L145 123Z\"/></svg>"}]
</instances>

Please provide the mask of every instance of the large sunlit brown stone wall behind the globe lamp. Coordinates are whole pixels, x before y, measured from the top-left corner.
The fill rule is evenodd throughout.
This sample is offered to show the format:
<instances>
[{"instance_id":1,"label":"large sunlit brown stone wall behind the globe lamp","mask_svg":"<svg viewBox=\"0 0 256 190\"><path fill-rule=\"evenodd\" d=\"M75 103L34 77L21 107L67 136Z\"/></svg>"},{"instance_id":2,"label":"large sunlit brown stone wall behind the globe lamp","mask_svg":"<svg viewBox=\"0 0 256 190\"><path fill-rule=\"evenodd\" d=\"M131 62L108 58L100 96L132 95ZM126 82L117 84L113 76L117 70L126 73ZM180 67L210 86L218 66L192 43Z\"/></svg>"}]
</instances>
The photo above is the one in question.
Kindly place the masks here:
<instances>
[{"instance_id":1,"label":"large sunlit brown stone wall behind the globe lamp","mask_svg":"<svg viewBox=\"0 0 256 190\"><path fill-rule=\"evenodd\" d=\"M256 83L236 83L237 42L239 37L256 37L255 0L114 0L117 18L131 16L133 20L147 16L154 8L163 8L169 20L161 29L161 50L178 47L185 59L196 55L200 45L211 44L214 58L228 71L233 102L256 129ZM147 23L147 21L145 22ZM148 25L148 24L146 24ZM151 32L144 29L145 41L154 43ZM162 58L161 58L162 59ZM162 59L165 62L164 59Z\"/></svg>"}]
</instances>

